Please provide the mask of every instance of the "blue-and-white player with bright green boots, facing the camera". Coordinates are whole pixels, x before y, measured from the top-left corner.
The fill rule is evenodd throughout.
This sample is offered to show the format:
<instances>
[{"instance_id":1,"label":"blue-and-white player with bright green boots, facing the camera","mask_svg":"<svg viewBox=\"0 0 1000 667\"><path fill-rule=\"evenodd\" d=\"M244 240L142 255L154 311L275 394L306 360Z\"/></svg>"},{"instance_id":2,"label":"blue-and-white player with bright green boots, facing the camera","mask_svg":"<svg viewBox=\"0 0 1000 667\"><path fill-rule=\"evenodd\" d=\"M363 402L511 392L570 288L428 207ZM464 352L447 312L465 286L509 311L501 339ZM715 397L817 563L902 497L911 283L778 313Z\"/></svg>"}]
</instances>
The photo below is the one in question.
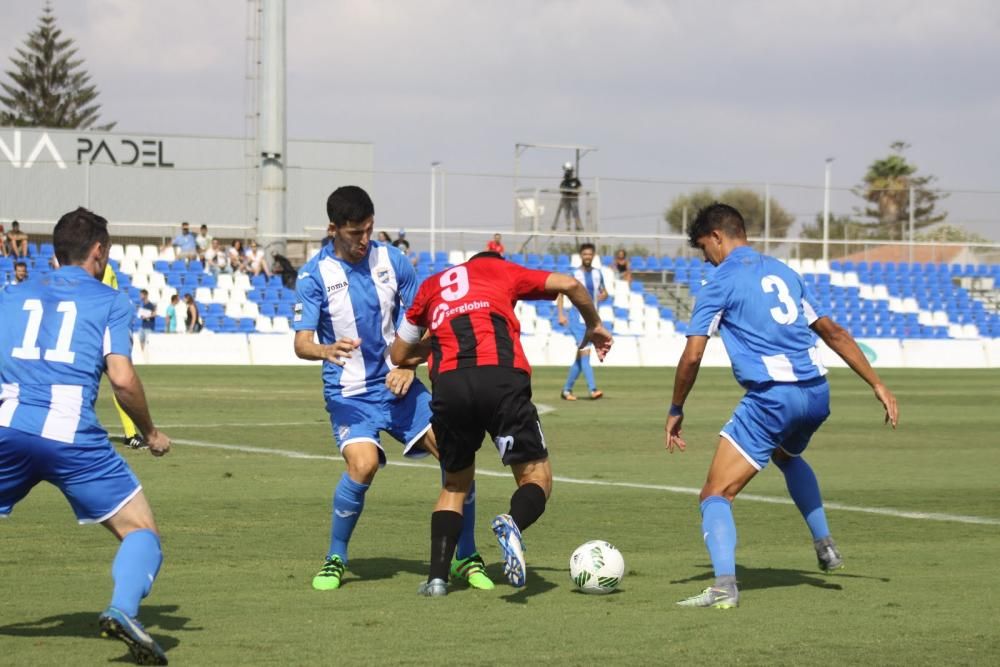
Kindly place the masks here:
<instances>
[{"instance_id":1,"label":"blue-and-white player with bright green boots, facing the camera","mask_svg":"<svg viewBox=\"0 0 1000 667\"><path fill-rule=\"evenodd\" d=\"M396 325L417 291L413 265L372 239L375 206L361 188L338 188L326 208L331 240L299 270L292 322L295 354L323 361L326 409L347 463L334 491L330 548L312 582L317 590L340 587L365 494L385 465L379 433L404 443L404 456L437 455L430 393L414 379L415 363L389 362ZM474 493L453 572L475 588L493 588L476 549Z\"/></svg>"}]
</instances>

